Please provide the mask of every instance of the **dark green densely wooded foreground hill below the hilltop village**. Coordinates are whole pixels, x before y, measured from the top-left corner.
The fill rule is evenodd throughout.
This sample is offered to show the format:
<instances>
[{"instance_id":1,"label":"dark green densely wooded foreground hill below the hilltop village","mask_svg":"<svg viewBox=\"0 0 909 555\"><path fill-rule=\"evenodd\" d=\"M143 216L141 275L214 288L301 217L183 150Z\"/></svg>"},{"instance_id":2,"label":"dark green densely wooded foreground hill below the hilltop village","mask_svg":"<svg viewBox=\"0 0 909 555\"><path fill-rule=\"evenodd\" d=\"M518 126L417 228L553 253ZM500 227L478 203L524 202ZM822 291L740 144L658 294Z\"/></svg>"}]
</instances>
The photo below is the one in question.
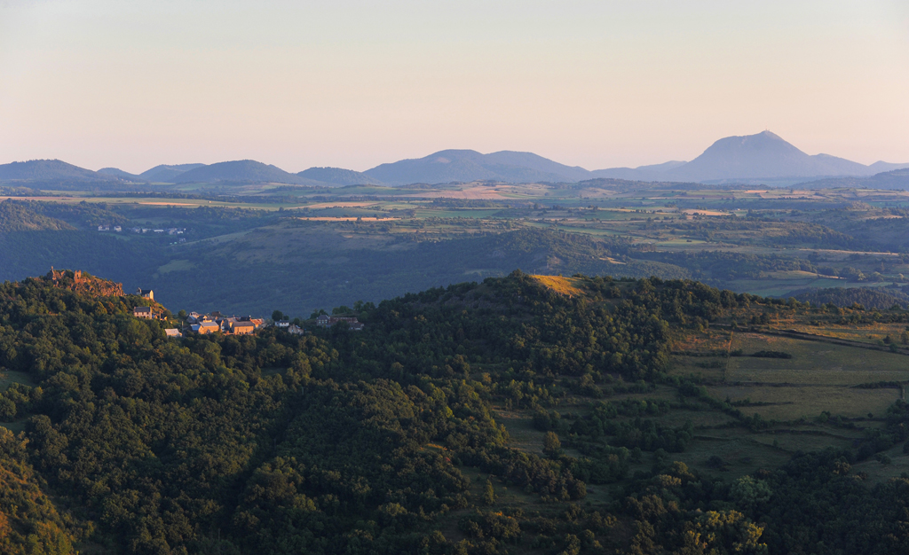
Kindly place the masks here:
<instances>
[{"instance_id":1,"label":"dark green densely wooded foreground hill below the hilltop village","mask_svg":"<svg viewBox=\"0 0 909 555\"><path fill-rule=\"evenodd\" d=\"M667 374L671 343L733 314L794 305L697 282L516 271L337 310L364 332L175 340L162 329L173 323L129 315L141 301L46 279L0 285L0 367L12 382L0 421L21 430L0 430L0 468L10 469L0 473L0 551L906 545L909 481L872 494L850 475L846 452L724 481L674 461L693 424L652 416L676 401L614 398L671 388L688 410L713 406L733 419L726 425L759 426ZM590 410L560 416L553 409L567 396L587 398ZM534 411L542 451L514 441L510 411ZM904 412L894 409L878 440L903 430Z\"/></svg>"}]
</instances>

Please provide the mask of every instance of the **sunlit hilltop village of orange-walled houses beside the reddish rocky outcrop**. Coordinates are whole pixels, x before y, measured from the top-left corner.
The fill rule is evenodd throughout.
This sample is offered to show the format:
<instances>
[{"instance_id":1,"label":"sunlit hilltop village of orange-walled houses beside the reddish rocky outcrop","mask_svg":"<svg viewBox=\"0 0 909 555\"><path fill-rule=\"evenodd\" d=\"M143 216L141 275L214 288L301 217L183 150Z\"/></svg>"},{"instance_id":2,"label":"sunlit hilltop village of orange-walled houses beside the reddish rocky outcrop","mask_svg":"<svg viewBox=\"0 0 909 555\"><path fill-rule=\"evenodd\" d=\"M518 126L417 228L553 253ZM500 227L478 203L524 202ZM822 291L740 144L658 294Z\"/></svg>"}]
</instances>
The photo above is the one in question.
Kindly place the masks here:
<instances>
[{"instance_id":1,"label":"sunlit hilltop village of orange-walled houses beside the reddish rocky outcrop","mask_svg":"<svg viewBox=\"0 0 909 555\"><path fill-rule=\"evenodd\" d=\"M155 292L150 289L136 289L135 294L149 301L155 301ZM167 320L162 311L155 311L151 306L136 306L133 309L135 318L144 320ZM362 332L365 328L363 322L359 322L355 316L329 316L320 314L315 318L315 326L318 328L331 328L335 324L343 322L348 331ZM292 323L284 317L280 320L269 321L265 318L253 318L252 316L228 316L218 311L201 314L199 312L189 312L182 319L183 325L179 328L165 328L167 337L183 337L186 333L197 333L205 335L208 333L222 333L224 335L250 335L262 328L274 325L279 330L294 334L304 335L308 333L304 328Z\"/></svg>"}]
</instances>

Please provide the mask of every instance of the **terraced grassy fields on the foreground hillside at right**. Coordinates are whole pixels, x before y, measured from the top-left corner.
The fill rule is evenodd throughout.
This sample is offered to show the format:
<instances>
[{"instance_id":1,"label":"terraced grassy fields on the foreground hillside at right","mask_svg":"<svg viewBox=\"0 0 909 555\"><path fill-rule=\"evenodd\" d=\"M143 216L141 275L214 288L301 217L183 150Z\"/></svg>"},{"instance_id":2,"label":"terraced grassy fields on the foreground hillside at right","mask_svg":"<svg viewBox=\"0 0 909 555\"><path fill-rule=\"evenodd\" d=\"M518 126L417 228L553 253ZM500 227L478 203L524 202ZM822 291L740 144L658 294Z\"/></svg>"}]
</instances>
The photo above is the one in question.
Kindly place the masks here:
<instances>
[{"instance_id":1,"label":"terraced grassy fields on the foreground hillside at right","mask_svg":"<svg viewBox=\"0 0 909 555\"><path fill-rule=\"evenodd\" d=\"M844 338L850 338L847 336L881 335L902 329L891 324L851 330L843 326L838 331ZM854 449L867 430L884 427L885 411L904 394L898 387L855 386L909 382L909 357L904 355L760 333L736 332L732 337L730 343L730 333L726 331L686 332L674 344L669 372L699 378L708 394L718 401L740 401L735 408L745 416L758 414L765 421L789 423L749 431L735 425L732 417L710 410L674 409L653 418L667 427L692 421L694 441L683 453L670 453L670 458L724 480L734 480L762 468L775 468L796 451L828 447ZM711 355L727 349L741 350L744 355L758 351L786 352L793 358ZM819 423L815 417L822 411L851 419L855 428ZM868 418L869 413L873 418ZM909 471L909 456L902 449L901 443L885 453L892 464L884 465L872 459L856 465L855 470L867 472L868 480L873 483L899 476ZM714 455L724 462L722 467L707 463Z\"/></svg>"}]
</instances>

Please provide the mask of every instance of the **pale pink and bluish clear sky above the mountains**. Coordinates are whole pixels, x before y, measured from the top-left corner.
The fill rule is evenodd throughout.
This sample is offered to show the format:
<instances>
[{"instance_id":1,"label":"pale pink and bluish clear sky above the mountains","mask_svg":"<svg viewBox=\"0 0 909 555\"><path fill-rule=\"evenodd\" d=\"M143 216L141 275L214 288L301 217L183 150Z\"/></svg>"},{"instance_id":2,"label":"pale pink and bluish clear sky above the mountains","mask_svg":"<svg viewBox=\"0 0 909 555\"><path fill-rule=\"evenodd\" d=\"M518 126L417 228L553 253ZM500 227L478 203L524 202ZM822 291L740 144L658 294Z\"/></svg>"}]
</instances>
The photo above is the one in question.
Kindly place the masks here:
<instances>
[{"instance_id":1,"label":"pale pink and bluish clear sky above the mountains","mask_svg":"<svg viewBox=\"0 0 909 555\"><path fill-rule=\"evenodd\" d=\"M0 0L0 164L909 162L905 0Z\"/></svg>"}]
</instances>

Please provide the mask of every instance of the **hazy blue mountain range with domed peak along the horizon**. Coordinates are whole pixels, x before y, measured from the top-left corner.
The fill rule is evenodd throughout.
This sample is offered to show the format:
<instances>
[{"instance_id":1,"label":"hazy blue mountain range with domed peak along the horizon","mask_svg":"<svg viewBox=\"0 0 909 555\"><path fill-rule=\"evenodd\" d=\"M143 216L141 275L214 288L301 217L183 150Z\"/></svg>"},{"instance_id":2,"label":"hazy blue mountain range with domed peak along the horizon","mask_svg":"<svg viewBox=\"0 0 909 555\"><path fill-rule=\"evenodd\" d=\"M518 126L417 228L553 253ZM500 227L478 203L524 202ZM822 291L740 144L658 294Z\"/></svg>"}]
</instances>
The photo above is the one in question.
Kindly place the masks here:
<instances>
[{"instance_id":1,"label":"hazy blue mountain range with domed peak along the horizon","mask_svg":"<svg viewBox=\"0 0 909 555\"><path fill-rule=\"evenodd\" d=\"M355 184L404 185L497 181L505 183L577 183L611 178L643 182L686 183L802 183L816 186L830 180L855 180L909 168L909 164L876 162L859 164L830 154L805 154L779 136L763 133L725 137L691 162L672 161L636 168L585 170L559 164L533 153L501 151L481 154L473 150L445 150L424 158L380 164L365 172L314 167L288 173L255 160L218 164L158 165L143 173L117 168L97 172L59 160L33 160L0 165L0 181L125 181L134 183L288 183L344 186ZM902 175L881 178L891 188L902 188ZM870 183L870 182L869 182ZM840 186L840 185L831 185ZM871 186L871 185L867 185Z\"/></svg>"}]
</instances>

